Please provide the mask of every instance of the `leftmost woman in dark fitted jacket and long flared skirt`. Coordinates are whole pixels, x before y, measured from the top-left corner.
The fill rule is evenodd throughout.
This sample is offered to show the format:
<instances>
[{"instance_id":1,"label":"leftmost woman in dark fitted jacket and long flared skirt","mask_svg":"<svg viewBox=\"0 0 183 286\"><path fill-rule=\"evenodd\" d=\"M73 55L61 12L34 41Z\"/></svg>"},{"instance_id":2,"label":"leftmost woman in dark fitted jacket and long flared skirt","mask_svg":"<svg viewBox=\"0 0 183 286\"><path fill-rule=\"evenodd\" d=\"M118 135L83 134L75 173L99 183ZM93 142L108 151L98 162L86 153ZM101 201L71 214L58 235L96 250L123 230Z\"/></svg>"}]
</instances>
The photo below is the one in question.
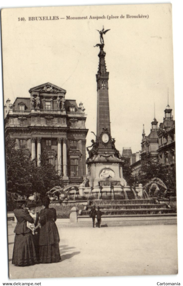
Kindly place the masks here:
<instances>
[{"instance_id":1,"label":"leftmost woman in dark fitted jacket and long flared skirt","mask_svg":"<svg viewBox=\"0 0 183 286\"><path fill-rule=\"evenodd\" d=\"M15 242L13 248L12 264L18 266L28 266L37 263L33 235L30 229L27 228L27 221L34 223L33 218L25 207L25 202L19 204L14 210L17 218L15 227Z\"/></svg>"}]
</instances>

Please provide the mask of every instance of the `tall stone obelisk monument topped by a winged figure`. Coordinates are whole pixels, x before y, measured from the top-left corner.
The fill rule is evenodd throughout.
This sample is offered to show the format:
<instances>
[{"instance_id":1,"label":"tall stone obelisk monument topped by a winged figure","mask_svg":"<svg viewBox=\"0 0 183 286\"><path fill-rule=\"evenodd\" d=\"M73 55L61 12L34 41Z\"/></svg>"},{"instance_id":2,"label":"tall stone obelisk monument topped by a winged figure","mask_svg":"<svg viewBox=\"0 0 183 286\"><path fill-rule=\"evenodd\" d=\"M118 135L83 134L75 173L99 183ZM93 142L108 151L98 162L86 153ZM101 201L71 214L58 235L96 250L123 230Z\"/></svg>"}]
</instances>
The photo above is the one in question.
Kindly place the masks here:
<instances>
[{"instance_id":1,"label":"tall stone obelisk monument topped by a winged figure","mask_svg":"<svg viewBox=\"0 0 183 286\"><path fill-rule=\"evenodd\" d=\"M98 30L97 30L98 31ZM89 158L87 159L87 169L89 186L81 184L80 194L87 192L105 194L111 192L121 192L126 186L126 181L122 174L122 160L119 151L115 148L115 139L112 138L110 132L110 112L109 112L109 96L108 96L108 79L109 72L106 71L103 35L109 30L104 31L104 27L100 33L100 43L95 47L100 48L98 54L99 65L96 74L97 82L97 127L95 141L91 140L91 146L87 147ZM127 187L128 189L128 187ZM88 190L88 191L87 191Z\"/></svg>"}]
</instances>

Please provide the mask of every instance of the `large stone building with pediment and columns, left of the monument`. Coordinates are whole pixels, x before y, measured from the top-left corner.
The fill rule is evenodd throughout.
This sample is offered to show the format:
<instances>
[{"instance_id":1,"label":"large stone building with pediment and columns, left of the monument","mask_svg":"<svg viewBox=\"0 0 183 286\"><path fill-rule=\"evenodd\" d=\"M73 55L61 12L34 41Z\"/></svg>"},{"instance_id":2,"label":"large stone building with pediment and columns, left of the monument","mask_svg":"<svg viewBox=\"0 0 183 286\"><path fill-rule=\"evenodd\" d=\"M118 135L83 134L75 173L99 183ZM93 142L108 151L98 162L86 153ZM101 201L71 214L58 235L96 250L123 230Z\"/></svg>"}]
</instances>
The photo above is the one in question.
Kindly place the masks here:
<instances>
[{"instance_id":1,"label":"large stone building with pediment and columns, left of the monument","mask_svg":"<svg viewBox=\"0 0 183 286\"><path fill-rule=\"evenodd\" d=\"M83 104L65 99L66 90L46 83L31 88L30 97L5 105L5 136L33 160L45 150L63 180L80 183L86 176L86 114Z\"/></svg>"}]
</instances>

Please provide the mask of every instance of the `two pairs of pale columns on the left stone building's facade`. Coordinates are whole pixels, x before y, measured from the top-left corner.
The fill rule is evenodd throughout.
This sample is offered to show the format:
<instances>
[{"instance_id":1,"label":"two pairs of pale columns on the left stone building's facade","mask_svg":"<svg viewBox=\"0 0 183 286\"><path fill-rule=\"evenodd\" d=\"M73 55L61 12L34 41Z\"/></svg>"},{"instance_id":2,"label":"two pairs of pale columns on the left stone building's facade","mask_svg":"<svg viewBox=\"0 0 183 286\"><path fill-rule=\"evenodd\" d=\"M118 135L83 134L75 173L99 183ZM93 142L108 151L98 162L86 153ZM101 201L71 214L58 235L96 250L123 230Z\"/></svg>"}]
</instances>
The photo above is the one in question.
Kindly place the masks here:
<instances>
[{"instance_id":1,"label":"two pairs of pale columns on the left stone building's facade","mask_svg":"<svg viewBox=\"0 0 183 286\"><path fill-rule=\"evenodd\" d=\"M41 160L41 137L31 138L31 158L36 158L36 142L37 142L37 166L40 166ZM61 143L63 142L63 176L67 176L67 139L57 139L57 163L58 163L58 174L61 175L62 170L62 152Z\"/></svg>"}]
</instances>

